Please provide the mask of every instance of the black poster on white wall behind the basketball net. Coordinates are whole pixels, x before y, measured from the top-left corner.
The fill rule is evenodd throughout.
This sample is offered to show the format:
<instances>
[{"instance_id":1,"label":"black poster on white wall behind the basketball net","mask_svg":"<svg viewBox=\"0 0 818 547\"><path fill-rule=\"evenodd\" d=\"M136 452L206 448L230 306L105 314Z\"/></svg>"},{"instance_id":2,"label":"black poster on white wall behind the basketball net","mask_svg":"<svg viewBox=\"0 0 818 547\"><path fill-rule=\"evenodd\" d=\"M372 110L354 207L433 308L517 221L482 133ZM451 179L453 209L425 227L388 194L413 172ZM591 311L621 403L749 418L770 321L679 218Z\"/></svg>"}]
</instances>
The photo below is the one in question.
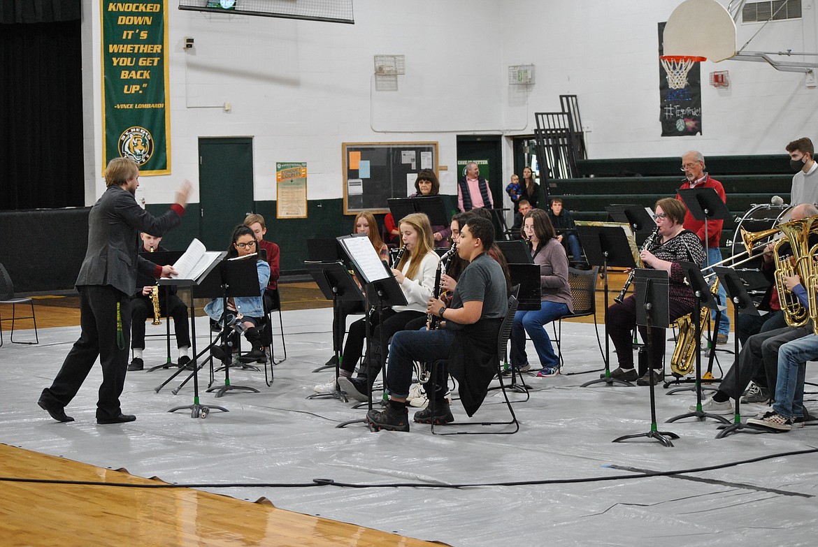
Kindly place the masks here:
<instances>
[{"instance_id":1,"label":"black poster on white wall behind the basketball net","mask_svg":"<svg viewBox=\"0 0 818 547\"><path fill-rule=\"evenodd\" d=\"M659 56L663 55L664 23L658 24ZM659 121L662 137L688 137L702 133L701 63L694 63L687 73L687 85L672 89L667 85L667 72L657 59L659 69Z\"/></svg>"}]
</instances>

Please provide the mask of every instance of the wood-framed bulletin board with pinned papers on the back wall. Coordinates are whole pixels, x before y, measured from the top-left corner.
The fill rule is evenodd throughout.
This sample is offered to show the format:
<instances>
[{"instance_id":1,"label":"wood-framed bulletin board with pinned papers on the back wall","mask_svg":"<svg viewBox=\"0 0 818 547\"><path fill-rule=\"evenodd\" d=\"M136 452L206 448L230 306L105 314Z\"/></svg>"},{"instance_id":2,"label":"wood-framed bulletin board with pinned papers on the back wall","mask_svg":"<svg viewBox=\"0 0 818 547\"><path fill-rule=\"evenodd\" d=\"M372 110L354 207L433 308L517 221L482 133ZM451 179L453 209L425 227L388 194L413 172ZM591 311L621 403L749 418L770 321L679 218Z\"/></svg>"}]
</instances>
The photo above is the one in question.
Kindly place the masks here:
<instances>
[{"instance_id":1,"label":"wood-framed bulletin board with pinned papers on the back wall","mask_svg":"<svg viewBox=\"0 0 818 547\"><path fill-rule=\"evenodd\" d=\"M437 142L344 142L344 214L389 213L389 198L414 190L420 169L438 173Z\"/></svg>"}]
</instances>

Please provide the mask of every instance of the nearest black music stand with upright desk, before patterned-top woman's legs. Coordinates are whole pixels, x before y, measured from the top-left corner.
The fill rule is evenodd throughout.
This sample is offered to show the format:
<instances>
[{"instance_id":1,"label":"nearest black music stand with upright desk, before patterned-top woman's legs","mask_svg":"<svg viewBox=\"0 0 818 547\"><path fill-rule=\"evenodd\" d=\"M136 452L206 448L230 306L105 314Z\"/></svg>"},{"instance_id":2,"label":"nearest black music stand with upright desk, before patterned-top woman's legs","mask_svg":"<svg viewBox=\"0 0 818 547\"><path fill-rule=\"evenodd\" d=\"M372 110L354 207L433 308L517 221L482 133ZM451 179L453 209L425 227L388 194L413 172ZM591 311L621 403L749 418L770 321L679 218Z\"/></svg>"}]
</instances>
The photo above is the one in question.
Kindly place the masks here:
<instances>
[{"instance_id":1,"label":"nearest black music stand with upright desk, before patterned-top woman's legs","mask_svg":"<svg viewBox=\"0 0 818 547\"><path fill-rule=\"evenodd\" d=\"M653 345L650 343L651 330L654 326L660 329L667 329L670 325L669 297L667 289L669 281L667 271L640 269L636 270L633 279L634 293L636 294L636 325L645 325L648 328L646 346L648 348L648 374L654 374L653 368ZM676 433L669 431L659 431L656 427L656 394L654 382L649 382L650 390L650 431L647 433L634 433L622 435L613 439L612 442L622 442L627 439L638 437L648 437L656 439L662 446L673 446L671 439L679 438Z\"/></svg>"}]
</instances>

